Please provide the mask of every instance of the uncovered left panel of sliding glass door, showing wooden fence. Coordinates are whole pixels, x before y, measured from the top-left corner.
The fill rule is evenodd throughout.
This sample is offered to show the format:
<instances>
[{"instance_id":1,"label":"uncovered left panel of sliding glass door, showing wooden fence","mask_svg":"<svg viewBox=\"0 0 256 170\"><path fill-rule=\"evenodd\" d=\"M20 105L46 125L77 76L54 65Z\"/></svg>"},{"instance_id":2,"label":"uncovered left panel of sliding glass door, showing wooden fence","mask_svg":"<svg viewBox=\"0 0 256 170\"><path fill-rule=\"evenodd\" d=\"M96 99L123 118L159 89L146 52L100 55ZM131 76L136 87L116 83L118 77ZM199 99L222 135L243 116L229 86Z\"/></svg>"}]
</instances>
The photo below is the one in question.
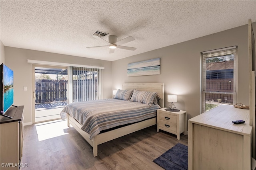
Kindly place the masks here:
<instances>
[{"instance_id":1,"label":"uncovered left panel of sliding glass door, showing wooden fence","mask_svg":"<svg viewBox=\"0 0 256 170\"><path fill-rule=\"evenodd\" d=\"M67 105L67 67L33 65L33 123L60 119Z\"/></svg>"}]
</instances>

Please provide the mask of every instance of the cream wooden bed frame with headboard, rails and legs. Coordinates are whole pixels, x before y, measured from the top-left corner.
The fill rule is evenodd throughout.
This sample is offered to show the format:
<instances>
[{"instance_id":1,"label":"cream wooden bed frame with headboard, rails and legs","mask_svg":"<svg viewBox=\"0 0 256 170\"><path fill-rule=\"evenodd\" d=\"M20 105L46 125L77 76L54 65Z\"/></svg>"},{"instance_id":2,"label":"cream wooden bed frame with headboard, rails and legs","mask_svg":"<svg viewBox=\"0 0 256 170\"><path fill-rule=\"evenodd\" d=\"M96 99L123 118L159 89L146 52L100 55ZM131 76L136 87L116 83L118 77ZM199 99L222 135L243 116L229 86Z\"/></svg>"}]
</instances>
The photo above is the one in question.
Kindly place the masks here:
<instances>
[{"instance_id":1,"label":"cream wooden bed frame with headboard, rails and legs","mask_svg":"<svg viewBox=\"0 0 256 170\"><path fill-rule=\"evenodd\" d=\"M125 83L122 85L122 90L125 89L136 89L141 91L150 91L150 92L157 92L160 96L159 105L164 107L164 84L163 83ZM144 129L146 127L150 127L156 124L156 117L152 119L147 119L145 121L141 121L138 123L134 123L131 125L127 125L124 127L120 127L118 129L114 129L112 131L100 133L95 136L92 140L88 133L81 129L82 125L76 121L73 117L68 115L68 126L70 124L84 137L84 139L92 145L93 156L98 155L98 145L116 139L118 137L122 137L124 135L128 135L129 133L133 133L140 129Z\"/></svg>"}]
</instances>

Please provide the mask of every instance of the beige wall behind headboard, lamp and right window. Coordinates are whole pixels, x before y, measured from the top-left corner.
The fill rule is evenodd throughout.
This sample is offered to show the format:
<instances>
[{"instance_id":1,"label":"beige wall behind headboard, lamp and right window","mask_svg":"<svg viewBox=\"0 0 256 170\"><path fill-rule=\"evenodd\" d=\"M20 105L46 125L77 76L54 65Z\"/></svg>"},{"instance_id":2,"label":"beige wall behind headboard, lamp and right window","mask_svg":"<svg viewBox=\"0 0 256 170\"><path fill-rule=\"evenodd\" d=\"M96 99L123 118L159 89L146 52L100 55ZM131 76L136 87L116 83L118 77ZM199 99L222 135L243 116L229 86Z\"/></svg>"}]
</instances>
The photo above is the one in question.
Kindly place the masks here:
<instances>
[{"instance_id":1,"label":"beige wall behind headboard, lamp and right window","mask_svg":"<svg viewBox=\"0 0 256 170\"><path fill-rule=\"evenodd\" d=\"M253 23L254 30L256 24ZM186 36L186 33L184 33ZM122 83L164 83L164 105L168 94L177 94L177 109L186 110L188 119L200 114L200 52L238 46L237 102L249 105L248 25L207 35L112 62L112 90ZM127 64L160 57L160 75L127 76Z\"/></svg>"}]
</instances>

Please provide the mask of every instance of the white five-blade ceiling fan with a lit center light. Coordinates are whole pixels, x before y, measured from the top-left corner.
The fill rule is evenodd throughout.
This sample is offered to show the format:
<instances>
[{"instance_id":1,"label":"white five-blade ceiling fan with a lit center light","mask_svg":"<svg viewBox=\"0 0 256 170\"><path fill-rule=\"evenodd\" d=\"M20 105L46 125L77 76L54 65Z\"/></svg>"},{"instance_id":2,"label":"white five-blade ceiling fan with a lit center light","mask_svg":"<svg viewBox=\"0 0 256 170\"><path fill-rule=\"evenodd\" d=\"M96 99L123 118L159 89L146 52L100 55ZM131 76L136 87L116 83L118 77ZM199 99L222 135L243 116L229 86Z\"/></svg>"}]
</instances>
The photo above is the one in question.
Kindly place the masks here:
<instances>
[{"instance_id":1,"label":"white five-blade ceiling fan with a lit center light","mask_svg":"<svg viewBox=\"0 0 256 170\"><path fill-rule=\"evenodd\" d=\"M109 53L114 53L116 48L132 50L132 51L136 50L136 48L134 48L134 47L122 46L122 44L124 44L124 43L128 43L130 41L135 40L134 37L131 37L131 36L126 37L126 38L124 38L120 41L117 41L116 35L109 35L108 36L108 41L100 38L98 35L92 35L92 36L95 37L96 39L99 39L100 41L102 41L104 43L107 43L108 45L95 46L95 47L109 47L110 48ZM87 47L87 48L95 48L95 47Z\"/></svg>"}]
</instances>

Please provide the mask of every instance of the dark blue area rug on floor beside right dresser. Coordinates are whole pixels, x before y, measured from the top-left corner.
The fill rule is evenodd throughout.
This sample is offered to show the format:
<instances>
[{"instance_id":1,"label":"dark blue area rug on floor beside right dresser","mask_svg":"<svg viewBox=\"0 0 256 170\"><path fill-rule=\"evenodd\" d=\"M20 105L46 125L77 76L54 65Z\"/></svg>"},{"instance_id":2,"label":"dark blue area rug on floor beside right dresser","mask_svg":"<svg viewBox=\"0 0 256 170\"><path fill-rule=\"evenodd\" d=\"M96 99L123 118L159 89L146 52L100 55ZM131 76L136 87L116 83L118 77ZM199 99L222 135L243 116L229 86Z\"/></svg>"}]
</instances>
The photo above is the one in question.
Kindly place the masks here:
<instances>
[{"instance_id":1,"label":"dark blue area rug on floor beside right dresser","mask_svg":"<svg viewBox=\"0 0 256 170\"><path fill-rule=\"evenodd\" d=\"M174 147L153 160L153 162L166 170L187 170L188 147L177 143Z\"/></svg>"}]
</instances>

